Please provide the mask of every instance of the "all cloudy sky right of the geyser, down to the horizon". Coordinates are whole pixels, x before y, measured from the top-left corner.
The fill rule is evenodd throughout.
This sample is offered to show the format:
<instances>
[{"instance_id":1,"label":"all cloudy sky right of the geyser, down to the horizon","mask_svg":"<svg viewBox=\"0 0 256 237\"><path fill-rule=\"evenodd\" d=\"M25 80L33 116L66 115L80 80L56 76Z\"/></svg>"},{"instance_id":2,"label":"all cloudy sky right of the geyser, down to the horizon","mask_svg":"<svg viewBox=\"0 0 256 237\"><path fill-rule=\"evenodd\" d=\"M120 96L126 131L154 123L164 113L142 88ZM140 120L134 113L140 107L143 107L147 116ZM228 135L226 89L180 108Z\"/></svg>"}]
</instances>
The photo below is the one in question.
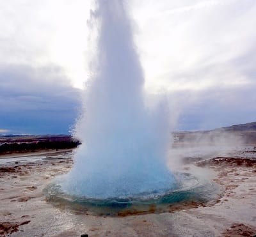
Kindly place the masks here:
<instances>
[{"instance_id":1,"label":"all cloudy sky right of the geyser, down to the horizon","mask_svg":"<svg viewBox=\"0 0 256 237\"><path fill-rule=\"evenodd\" d=\"M177 129L255 121L255 1L132 3L146 86L168 91Z\"/></svg>"}]
</instances>

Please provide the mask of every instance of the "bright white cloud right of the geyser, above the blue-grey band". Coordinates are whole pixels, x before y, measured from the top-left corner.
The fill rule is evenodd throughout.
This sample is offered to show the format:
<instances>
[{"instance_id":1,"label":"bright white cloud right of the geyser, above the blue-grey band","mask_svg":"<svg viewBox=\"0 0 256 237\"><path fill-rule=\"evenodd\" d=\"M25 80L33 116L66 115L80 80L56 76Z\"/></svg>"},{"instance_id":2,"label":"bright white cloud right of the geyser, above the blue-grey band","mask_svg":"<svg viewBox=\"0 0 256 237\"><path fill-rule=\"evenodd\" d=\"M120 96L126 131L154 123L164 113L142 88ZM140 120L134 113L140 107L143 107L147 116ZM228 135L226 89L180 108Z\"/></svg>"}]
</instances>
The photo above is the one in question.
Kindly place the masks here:
<instances>
[{"instance_id":1,"label":"bright white cloud right of the geyser, above the blue-grey band","mask_svg":"<svg viewBox=\"0 0 256 237\"><path fill-rule=\"evenodd\" d=\"M208 89L254 71L255 1L133 1L147 88ZM241 58L247 59L239 64ZM250 69L249 69L250 68Z\"/></svg>"}]
</instances>

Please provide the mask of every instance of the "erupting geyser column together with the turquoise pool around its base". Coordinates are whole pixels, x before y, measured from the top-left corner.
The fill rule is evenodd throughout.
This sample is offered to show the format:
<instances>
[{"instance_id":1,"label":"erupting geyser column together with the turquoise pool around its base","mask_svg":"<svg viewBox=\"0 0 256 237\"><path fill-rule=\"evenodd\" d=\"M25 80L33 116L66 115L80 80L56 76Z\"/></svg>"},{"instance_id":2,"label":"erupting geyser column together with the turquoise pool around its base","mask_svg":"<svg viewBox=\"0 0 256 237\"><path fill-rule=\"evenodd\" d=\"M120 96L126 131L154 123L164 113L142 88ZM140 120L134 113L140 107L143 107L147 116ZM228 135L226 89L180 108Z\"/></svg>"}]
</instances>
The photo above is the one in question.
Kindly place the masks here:
<instances>
[{"instance_id":1,"label":"erupting geyser column together with the turquoise pool around its base","mask_svg":"<svg viewBox=\"0 0 256 237\"><path fill-rule=\"evenodd\" d=\"M91 21L97 50L74 130L82 144L72 169L54 180L47 197L104 215L214 199L212 183L166 164L172 143L168 102L158 95L146 103L125 2L99 0L95 9Z\"/></svg>"}]
</instances>

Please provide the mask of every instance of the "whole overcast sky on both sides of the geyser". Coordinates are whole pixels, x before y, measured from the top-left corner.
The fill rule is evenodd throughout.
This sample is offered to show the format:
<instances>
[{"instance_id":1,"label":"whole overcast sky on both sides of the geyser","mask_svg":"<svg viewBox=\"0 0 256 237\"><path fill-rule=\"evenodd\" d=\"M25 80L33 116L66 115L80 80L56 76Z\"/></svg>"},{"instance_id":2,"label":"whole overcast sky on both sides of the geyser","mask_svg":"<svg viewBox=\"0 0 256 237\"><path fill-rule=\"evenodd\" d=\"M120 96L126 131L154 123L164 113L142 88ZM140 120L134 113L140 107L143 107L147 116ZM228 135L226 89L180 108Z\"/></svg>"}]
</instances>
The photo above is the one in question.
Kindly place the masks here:
<instances>
[{"instance_id":1,"label":"whole overcast sky on both sides of the geyser","mask_svg":"<svg viewBox=\"0 0 256 237\"><path fill-rule=\"evenodd\" d=\"M90 77L92 2L0 0L0 133L66 134ZM131 0L148 93L175 129L256 121L255 0Z\"/></svg>"}]
</instances>

